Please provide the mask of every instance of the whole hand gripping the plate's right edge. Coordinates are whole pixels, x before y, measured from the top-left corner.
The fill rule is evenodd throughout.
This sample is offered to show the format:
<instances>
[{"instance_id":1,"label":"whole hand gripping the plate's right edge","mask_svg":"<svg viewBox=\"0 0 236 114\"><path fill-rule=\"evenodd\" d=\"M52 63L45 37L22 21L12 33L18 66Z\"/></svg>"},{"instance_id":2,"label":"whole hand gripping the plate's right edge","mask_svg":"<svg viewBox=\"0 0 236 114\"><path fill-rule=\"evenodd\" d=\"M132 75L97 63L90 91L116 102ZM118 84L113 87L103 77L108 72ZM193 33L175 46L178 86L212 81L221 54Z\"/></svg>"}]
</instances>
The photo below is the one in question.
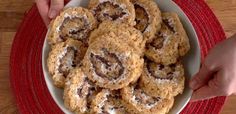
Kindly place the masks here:
<instances>
[{"instance_id":1,"label":"whole hand gripping the plate's right edge","mask_svg":"<svg viewBox=\"0 0 236 114\"><path fill-rule=\"evenodd\" d=\"M191 101L236 93L236 34L210 51L189 85Z\"/></svg>"}]
</instances>

